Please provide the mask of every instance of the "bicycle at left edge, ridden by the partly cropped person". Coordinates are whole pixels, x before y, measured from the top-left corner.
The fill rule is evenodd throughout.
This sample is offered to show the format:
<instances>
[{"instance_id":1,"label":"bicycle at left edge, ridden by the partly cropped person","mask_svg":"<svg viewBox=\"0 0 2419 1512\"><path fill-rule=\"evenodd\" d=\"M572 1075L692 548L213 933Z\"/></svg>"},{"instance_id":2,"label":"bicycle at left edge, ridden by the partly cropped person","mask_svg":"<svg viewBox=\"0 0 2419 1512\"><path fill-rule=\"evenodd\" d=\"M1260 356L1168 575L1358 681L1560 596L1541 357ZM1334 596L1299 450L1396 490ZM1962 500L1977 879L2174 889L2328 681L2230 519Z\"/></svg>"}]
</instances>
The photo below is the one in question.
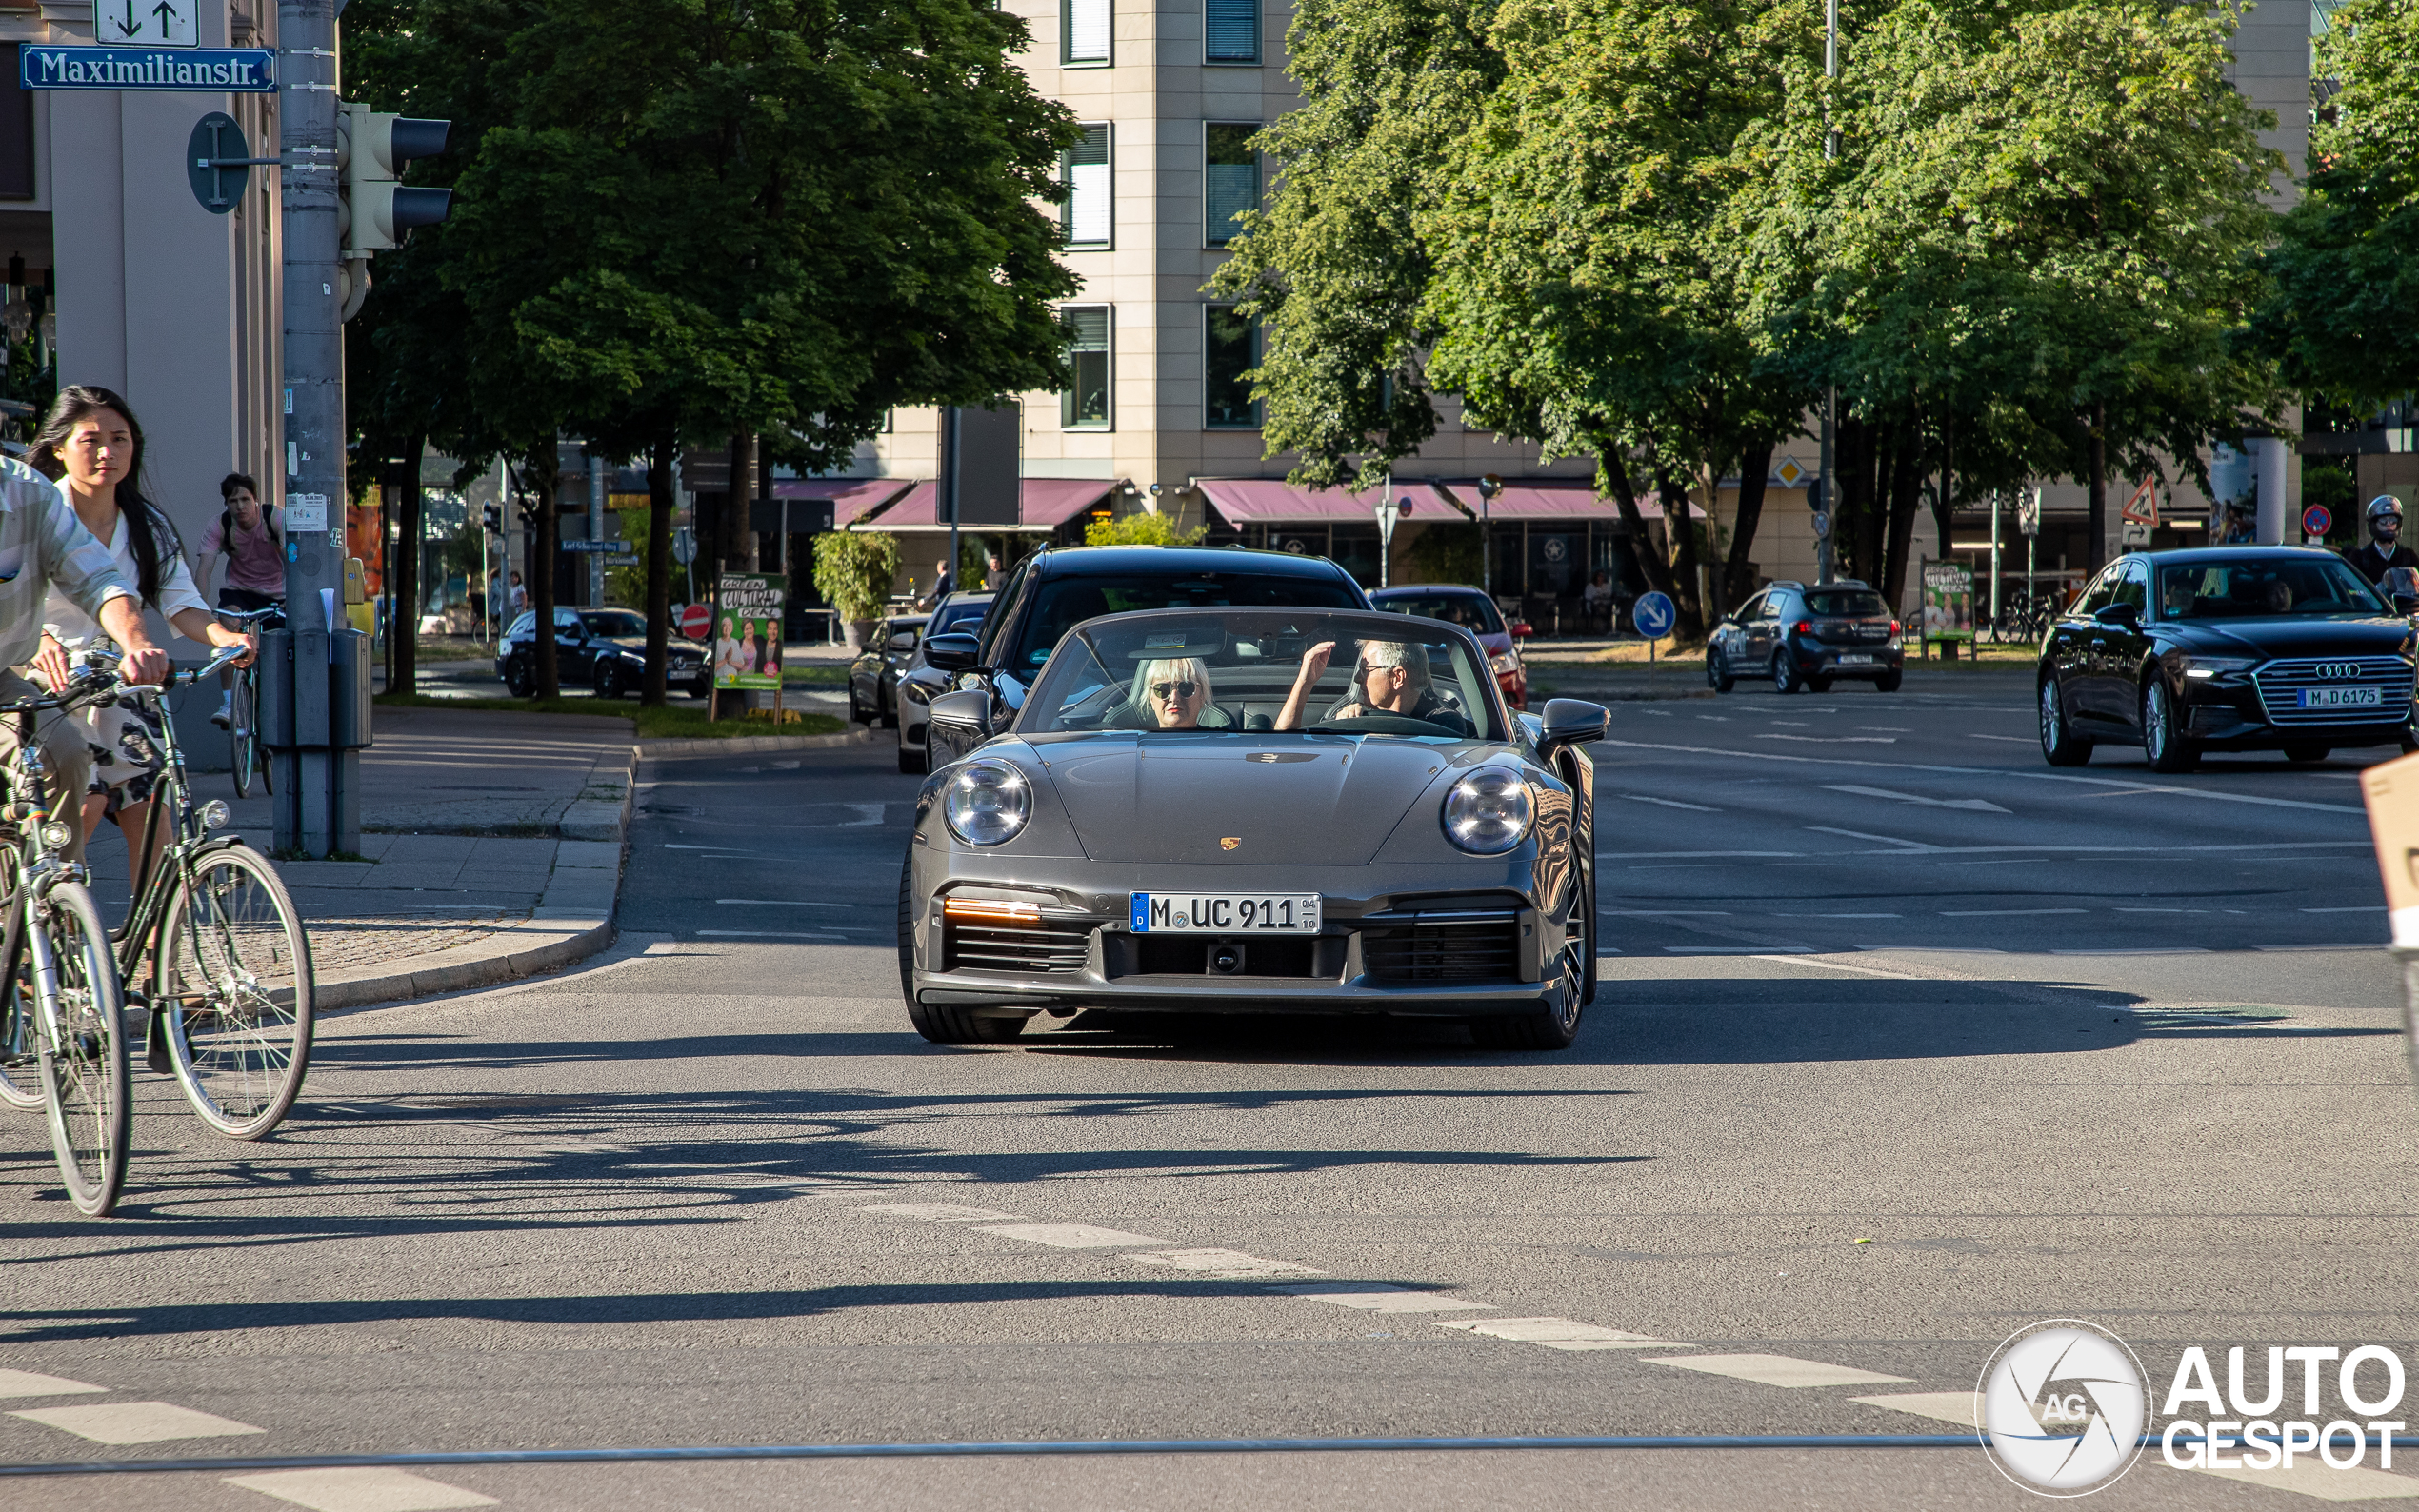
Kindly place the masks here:
<instances>
[{"instance_id":1,"label":"bicycle at left edge, ridden by the partly cropped person","mask_svg":"<svg viewBox=\"0 0 2419 1512\"><path fill-rule=\"evenodd\" d=\"M116 1207L126 1183L123 992L90 873L63 856L85 796L65 793L46 810L27 793L46 791L48 779L34 716L94 704L111 685L114 673L87 673L60 694L0 704L0 716L17 721L0 803L0 1101L44 1108L68 1200L90 1217Z\"/></svg>"}]
</instances>

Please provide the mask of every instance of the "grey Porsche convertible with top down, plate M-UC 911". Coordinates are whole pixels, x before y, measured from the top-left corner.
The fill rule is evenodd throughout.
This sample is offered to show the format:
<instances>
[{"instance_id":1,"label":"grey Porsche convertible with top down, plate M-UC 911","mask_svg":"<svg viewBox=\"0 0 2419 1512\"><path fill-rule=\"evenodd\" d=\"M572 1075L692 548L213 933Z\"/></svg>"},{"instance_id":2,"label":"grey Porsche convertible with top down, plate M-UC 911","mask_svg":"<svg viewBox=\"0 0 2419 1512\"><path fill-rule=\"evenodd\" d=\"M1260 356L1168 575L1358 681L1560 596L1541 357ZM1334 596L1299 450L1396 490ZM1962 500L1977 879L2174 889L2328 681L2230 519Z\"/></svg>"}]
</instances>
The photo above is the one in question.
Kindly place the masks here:
<instances>
[{"instance_id":1,"label":"grey Porsche convertible with top down, plate M-UC 911","mask_svg":"<svg viewBox=\"0 0 2419 1512\"><path fill-rule=\"evenodd\" d=\"M934 1043L1035 1014L1396 1014L1560 1050L1597 987L1606 711L1512 714L1439 619L1151 610L1057 644L917 793L900 989Z\"/></svg>"}]
</instances>

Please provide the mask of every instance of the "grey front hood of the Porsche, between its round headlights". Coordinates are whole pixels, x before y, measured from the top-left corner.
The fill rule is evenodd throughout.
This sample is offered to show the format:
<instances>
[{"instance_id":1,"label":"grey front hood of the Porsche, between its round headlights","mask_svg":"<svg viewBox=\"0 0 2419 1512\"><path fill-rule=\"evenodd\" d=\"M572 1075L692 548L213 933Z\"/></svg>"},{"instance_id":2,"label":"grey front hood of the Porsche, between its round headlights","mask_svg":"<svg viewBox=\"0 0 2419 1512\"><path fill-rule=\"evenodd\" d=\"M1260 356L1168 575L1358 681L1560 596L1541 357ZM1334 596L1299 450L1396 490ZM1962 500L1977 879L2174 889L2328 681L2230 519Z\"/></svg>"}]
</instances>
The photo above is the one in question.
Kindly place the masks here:
<instances>
[{"instance_id":1,"label":"grey front hood of the Porsche, between its round headlights","mask_svg":"<svg viewBox=\"0 0 2419 1512\"><path fill-rule=\"evenodd\" d=\"M1093 861L1367 866L1451 762L1352 735L1074 740L1038 750Z\"/></svg>"}]
</instances>

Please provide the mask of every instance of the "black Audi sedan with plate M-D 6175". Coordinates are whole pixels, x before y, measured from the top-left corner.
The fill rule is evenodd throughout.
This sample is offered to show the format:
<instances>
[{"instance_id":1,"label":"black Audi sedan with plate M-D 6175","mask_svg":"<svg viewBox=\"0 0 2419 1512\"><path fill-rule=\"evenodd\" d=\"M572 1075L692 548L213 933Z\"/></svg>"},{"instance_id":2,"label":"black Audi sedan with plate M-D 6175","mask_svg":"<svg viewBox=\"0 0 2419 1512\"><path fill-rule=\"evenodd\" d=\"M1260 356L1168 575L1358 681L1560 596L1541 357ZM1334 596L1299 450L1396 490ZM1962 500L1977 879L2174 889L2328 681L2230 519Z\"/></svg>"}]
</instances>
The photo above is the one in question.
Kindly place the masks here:
<instances>
[{"instance_id":1,"label":"black Audi sedan with plate M-D 6175","mask_svg":"<svg viewBox=\"0 0 2419 1512\"><path fill-rule=\"evenodd\" d=\"M2117 740L2189 772L2209 750L2419 750L2412 692L2412 622L2334 552L2146 552L2042 639L2042 755L2080 767Z\"/></svg>"}]
</instances>

